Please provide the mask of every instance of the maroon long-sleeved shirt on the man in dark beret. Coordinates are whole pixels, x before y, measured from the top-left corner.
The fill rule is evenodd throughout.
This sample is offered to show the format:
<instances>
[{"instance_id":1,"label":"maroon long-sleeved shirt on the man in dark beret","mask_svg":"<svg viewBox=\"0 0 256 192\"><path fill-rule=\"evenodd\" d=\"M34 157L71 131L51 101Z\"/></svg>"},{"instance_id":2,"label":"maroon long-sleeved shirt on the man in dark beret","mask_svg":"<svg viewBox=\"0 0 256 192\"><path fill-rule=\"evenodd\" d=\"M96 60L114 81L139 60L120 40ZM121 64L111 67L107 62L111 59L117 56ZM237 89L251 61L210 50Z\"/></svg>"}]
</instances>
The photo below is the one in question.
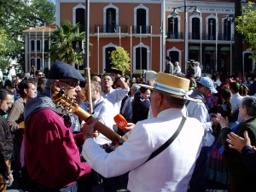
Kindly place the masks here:
<instances>
[{"instance_id":1,"label":"maroon long-sleeved shirt on the man in dark beret","mask_svg":"<svg viewBox=\"0 0 256 192\"><path fill-rule=\"evenodd\" d=\"M81 134L73 135L64 119L50 109L43 109L26 122L25 160L32 181L45 187L61 189L91 171L80 161Z\"/></svg>"}]
</instances>

